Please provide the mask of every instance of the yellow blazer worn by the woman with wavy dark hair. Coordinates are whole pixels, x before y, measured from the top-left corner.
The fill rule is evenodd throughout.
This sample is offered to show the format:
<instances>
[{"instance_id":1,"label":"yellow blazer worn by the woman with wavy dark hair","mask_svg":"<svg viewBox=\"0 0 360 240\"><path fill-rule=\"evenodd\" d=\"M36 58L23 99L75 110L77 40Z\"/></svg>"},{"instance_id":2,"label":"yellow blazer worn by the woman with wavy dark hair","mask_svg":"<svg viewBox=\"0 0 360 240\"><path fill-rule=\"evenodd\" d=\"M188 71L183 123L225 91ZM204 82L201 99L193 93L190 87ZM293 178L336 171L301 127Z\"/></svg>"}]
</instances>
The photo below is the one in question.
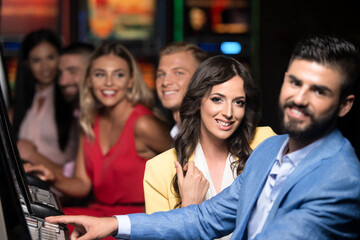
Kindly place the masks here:
<instances>
[{"instance_id":1,"label":"yellow blazer worn by the woman with wavy dark hair","mask_svg":"<svg viewBox=\"0 0 360 240\"><path fill-rule=\"evenodd\" d=\"M276 134L270 127L257 127L250 142L251 149L255 149L266 138L274 135ZM144 174L146 213L169 211L178 203L179 199L174 195L171 183L176 174L176 160L175 148L172 148L147 161ZM194 155L189 161L194 161Z\"/></svg>"}]
</instances>

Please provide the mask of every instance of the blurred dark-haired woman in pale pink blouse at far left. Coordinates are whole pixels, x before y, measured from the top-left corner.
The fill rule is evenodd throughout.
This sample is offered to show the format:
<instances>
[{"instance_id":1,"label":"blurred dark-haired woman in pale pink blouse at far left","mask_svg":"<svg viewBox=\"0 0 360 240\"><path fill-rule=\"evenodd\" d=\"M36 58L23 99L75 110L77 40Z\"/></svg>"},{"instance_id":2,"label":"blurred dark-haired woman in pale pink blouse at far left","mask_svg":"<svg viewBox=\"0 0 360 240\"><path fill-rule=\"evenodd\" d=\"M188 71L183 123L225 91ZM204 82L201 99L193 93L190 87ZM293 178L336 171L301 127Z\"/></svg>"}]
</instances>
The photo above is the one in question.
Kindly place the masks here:
<instances>
[{"instance_id":1,"label":"blurred dark-haired woman in pale pink blouse at far left","mask_svg":"<svg viewBox=\"0 0 360 240\"><path fill-rule=\"evenodd\" d=\"M20 156L62 172L76 155L71 107L57 85L61 42L50 30L25 36L21 43L12 112Z\"/></svg>"}]
</instances>

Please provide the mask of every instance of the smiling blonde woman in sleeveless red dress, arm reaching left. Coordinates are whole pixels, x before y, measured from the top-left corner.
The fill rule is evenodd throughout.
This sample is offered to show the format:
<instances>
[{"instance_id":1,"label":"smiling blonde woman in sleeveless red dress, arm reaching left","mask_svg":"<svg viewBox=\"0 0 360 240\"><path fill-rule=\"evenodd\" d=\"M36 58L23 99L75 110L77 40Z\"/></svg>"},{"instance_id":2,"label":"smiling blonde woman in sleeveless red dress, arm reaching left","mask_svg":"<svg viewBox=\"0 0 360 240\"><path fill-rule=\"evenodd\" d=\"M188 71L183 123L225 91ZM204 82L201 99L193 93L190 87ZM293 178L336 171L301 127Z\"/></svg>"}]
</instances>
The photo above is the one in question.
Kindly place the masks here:
<instances>
[{"instance_id":1,"label":"smiling blonde woman in sleeveless red dress, arm reaching left","mask_svg":"<svg viewBox=\"0 0 360 240\"><path fill-rule=\"evenodd\" d=\"M42 178L65 195L83 198L87 207L65 214L112 216L144 211L142 180L147 159L170 148L166 124L149 110L153 95L131 53L119 43L104 43L90 59L80 89L79 149L73 178L42 166Z\"/></svg>"}]
</instances>

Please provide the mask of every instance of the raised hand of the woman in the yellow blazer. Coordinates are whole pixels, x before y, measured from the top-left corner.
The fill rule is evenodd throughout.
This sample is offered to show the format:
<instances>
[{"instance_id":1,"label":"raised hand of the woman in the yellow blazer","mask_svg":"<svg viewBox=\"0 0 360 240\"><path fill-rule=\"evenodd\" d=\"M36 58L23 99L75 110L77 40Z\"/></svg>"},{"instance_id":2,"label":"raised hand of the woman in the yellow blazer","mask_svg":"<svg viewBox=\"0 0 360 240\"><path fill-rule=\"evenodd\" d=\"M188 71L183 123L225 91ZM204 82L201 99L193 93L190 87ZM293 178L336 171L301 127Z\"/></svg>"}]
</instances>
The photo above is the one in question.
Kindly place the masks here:
<instances>
[{"instance_id":1,"label":"raised hand of the woman in the yellow blazer","mask_svg":"<svg viewBox=\"0 0 360 240\"><path fill-rule=\"evenodd\" d=\"M188 162L184 169L179 162L175 161L175 167L178 177L181 207L202 203L209 189L209 182L202 172L195 166L193 161ZM184 176L184 171L187 171L186 176Z\"/></svg>"}]
</instances>

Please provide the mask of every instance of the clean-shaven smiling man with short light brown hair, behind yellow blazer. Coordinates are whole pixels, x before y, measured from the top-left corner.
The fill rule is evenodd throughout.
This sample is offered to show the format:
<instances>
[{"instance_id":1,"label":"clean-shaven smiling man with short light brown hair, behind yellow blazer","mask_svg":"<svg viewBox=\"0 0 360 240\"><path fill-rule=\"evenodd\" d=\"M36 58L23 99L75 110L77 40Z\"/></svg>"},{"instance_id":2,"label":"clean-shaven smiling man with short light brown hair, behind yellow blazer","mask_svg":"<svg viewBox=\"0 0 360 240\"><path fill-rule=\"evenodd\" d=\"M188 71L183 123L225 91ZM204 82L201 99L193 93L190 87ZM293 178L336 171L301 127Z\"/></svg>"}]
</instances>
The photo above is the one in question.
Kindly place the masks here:
<instances>
[{"instance_id":1,"label":"clean-shaven smiling man with short light brown hair, behind yellow blazer","mask_svg":"<svg viewBox=\"0 0 360 240\"><path fill-rule=\"evenodd\" d=\"M207 58L198 46L188 42L174 42L159 53L156 72L156 91L164 108L172 111L176 125L171 130L174 138L180 124L179 108L196 68Z\"/></svg>"}]
</instances>

